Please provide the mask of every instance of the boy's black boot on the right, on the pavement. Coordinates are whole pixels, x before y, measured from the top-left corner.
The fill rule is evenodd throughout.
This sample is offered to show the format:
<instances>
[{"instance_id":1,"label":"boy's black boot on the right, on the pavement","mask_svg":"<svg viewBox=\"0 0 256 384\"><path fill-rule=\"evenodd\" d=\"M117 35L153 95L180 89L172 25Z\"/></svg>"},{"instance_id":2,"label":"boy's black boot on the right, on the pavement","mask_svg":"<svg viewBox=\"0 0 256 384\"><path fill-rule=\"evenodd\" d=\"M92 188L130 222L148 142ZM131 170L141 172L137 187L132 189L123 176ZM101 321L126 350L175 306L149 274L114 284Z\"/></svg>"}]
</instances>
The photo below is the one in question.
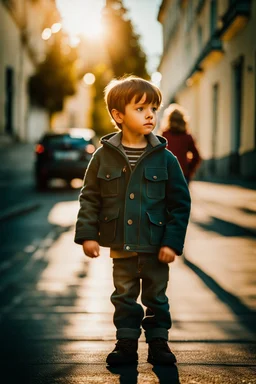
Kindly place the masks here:
<instances>
[{"instance_id":1,"label":"boy's black boot on the right, on the pavement","mask_svg":"<svg viewBox=\"0 0 256 384\"><path fill-rule=\"evenodd\" d=\"M155 338L148 343L148 362L158 365L173 365L176 357L165 339Z\"/></svg>"}]
</instances>

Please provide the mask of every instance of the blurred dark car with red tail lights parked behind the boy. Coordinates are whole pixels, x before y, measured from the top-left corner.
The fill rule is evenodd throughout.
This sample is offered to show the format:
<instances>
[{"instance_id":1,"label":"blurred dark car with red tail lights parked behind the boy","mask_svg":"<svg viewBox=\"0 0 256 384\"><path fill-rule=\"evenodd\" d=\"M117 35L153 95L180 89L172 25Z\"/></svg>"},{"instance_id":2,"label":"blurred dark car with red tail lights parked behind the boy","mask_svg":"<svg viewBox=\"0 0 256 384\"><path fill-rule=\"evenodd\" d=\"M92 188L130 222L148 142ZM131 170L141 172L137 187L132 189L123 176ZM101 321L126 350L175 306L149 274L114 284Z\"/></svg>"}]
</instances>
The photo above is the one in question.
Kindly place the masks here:
<instances>
[{"instance_id":1,"label":"blurred dark car with red tail lights parked behind the boy","mask_svg":"<svg viewBox=\"0 0 256 384\"><path fill-rule=\"evenodd\" d=\"M44 189L53 178L83 179L95 151L95 133L88 128L72 128L63 133L45 133L36 144L36 186Z\"/></svg>"}]
</instances>

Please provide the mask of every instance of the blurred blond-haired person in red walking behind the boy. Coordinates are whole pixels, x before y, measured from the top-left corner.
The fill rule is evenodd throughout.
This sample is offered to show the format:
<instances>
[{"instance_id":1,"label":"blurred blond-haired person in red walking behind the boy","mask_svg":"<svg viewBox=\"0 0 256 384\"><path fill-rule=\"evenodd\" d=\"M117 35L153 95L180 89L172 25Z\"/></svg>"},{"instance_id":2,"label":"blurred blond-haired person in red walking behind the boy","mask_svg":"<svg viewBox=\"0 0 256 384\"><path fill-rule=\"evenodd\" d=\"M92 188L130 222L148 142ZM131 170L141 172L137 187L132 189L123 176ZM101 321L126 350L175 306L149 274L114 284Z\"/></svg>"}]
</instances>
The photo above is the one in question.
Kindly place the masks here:
<instances>
[{"instance_id":1,"label":"blurred blond-haired person in red walking behind the boy","mask_svg":"<svg viewBox=\"0 0 256 384\"><path fill-rule=\"evenodd\" d=\"M179 104L170 104L160 123L160 134L167 140L167 148L177 157L187 183L199 167L202 158L193 136L188 130L188 115Z\"/></svg>"}]
</instances>

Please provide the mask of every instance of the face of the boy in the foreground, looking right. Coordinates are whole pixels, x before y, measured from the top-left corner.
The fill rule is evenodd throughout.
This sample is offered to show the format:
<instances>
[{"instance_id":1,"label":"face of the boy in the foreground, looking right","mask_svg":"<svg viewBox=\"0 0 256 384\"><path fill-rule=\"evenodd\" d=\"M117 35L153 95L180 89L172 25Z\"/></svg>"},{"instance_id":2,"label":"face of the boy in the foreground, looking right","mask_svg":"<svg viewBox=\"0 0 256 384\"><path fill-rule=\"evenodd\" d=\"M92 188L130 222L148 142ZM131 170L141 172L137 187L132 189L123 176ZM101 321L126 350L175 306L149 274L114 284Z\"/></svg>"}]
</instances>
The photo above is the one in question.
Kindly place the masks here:
<instances>
[{"instance_id":1,"label":"face of the boy in the foreground, looking right","mask_svg":"<svg viewBox=\"0 0 256 384\"><path fill-rule=\"evenodd\" d=\"M135 103L135 97L125 107L124 113L119 113L119 123L122 124L122 131L135 135L148 135L157 123L157 105L146 104L144 94L139 102Z\"/></svg>"}]
</instances>

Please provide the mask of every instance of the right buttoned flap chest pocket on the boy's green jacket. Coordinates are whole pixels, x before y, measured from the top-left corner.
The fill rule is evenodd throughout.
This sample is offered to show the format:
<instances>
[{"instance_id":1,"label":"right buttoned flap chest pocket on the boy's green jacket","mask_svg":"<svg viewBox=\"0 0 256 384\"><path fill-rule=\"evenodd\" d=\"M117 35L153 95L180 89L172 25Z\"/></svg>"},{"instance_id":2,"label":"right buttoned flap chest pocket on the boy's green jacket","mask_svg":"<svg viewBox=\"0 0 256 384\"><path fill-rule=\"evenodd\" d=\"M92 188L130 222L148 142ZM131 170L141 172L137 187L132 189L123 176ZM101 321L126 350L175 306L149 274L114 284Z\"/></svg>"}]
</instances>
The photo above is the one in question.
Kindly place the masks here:
<instances>
[{"instance_id":1,"label":"right buttoned flap chest pocket on the boy's green jacket","mask_svg":"<svg viewBox=\"0 0 256 384\"><path fill-rule=\"evenodd\" d=\"M150 199L164 199L165 183L168 179L166 168L145 168L146 193Z\"/></svg>"}]
</instances>

